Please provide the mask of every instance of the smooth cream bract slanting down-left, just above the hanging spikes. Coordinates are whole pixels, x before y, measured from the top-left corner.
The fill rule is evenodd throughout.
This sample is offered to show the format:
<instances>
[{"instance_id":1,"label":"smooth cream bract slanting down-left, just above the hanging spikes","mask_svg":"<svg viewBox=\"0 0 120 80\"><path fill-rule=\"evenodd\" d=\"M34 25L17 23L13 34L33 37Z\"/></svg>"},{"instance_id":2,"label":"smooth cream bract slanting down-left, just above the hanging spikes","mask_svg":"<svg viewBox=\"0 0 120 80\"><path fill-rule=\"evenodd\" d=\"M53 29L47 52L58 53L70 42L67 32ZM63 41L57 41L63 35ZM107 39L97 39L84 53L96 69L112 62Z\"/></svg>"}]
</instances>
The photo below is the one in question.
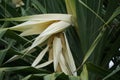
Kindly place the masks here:
<instances>
[{"instance_id":1,"label":"smooth cream bract slanting down-left, just above the hanging spikes","mask_svg":"<svg viewBox=\"0 0 120 80\"><path fill-rule=\"evenodd\" d=\"M30 46L29 50L40 45L42 42L47 40L51 35L63 31L65 28L69 27L70 24L64 21L59 21L51 24L45 31L43 31ZM28 50L28 51L29 51Z\"/></svg>"}]
</instances>

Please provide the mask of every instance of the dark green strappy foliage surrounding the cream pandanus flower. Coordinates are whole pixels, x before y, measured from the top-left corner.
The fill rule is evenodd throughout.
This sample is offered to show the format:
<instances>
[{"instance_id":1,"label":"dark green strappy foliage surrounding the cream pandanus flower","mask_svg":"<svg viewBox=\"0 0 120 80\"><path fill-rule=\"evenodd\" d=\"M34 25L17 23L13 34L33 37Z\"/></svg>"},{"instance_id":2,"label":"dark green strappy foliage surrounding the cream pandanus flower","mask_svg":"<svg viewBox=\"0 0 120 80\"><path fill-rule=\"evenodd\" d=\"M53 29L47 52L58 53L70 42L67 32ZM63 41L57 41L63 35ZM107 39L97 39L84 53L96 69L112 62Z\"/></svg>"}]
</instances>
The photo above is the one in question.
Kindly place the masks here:
<instances>
[{"instance_id":1,"label":"dark green strappy foliage surrounding the cream pandanus flower","mask_svg":"<svg viewBox=\"0 0 120 80\"><path fill-rule=\"evenodd\" d=\"M119 0L0 0L0 79L1 80L119 80L120 1ZM23 23L16 17L64 13L73 24L64 30L77 76L54 72L53 64L31 65L46 48L46 42L26 54L37 35L21 36L10 28ZM57 17L57 16L56 16ZM12 19L11 19L12 18ZM26 19L26 18L22 18ZM28 19L29 20L29 19ZM48 53L48 52L47 52ZM48 60L46 54L39 64ZM110 61L114 63L109 66Z\"/></svg>"}]
</instances>

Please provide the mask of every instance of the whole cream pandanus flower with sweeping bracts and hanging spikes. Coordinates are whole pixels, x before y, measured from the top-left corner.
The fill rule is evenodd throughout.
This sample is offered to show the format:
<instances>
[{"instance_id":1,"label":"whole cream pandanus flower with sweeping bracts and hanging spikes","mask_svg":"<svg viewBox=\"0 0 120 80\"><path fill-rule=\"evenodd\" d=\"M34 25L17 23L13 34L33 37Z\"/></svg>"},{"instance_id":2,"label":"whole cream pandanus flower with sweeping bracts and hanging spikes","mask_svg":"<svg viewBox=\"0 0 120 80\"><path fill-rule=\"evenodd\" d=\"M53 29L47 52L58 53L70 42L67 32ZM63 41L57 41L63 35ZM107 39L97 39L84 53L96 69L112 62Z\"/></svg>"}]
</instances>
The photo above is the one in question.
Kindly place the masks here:
<instances>
[{"instance_id":1,"label":"whole cream pandanus flower with sweeping bracts and hanging spikes","mask_svg":"<svg viewBox=\"0 0 120 80\"><path fill-rule=\"evenodd\" d=\"M11 18L11 20L15 19ZM64 33L64 30L72 25L71 15L41 14L21 17L17 20L26 22L11 27L11 30L21 31L20 36L38 35L27 52L47 41L47 47L36 57L31 65L32 67L42 68L53 63L55 72L77 75L75 62ZM39 64L47 52L49 53L48 61Z\"/></svg>"}]
</instances>

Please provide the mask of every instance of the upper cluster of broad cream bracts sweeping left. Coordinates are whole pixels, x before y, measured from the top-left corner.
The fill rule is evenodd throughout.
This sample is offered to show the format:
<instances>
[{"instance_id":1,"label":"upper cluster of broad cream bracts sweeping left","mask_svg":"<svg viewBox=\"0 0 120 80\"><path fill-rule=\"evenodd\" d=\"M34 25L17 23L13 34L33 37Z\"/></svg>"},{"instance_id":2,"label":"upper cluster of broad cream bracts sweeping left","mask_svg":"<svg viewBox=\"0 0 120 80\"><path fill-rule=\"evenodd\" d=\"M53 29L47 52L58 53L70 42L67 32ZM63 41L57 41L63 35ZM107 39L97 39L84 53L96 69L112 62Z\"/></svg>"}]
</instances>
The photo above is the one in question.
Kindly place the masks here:
<instances>
[{"instance_id":1,"label":"upper cluster of broad cream bracts sweeping left","mask_svg":"<svg viewBox=\"0 0 120 80\"><path fill-rule=\"evenodd\" d=\"M18 20L25 20L26 22L11 27L11 30L21 31L21 36L39 34L28 51L43 43L51 35L62 32L72 24L71 15L68 14L41 14L21 17Z\"/></svg>"}]
</instances>

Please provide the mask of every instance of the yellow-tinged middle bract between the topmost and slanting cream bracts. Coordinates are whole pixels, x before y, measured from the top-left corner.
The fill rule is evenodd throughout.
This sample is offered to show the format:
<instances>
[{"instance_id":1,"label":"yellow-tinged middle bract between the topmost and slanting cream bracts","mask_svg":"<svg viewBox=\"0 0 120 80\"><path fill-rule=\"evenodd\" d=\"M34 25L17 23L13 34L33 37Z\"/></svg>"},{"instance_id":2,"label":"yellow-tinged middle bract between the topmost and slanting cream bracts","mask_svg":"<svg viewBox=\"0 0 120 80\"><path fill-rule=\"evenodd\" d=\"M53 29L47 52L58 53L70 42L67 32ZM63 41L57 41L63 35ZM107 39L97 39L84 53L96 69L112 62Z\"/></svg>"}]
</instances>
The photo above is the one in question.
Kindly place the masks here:
<instances>
[{"instance_id":1,"label":"yellow-tinged middle bract between the topmost and slanting cream bracts","mask_svg":"<svg viewBox=\"0 0 120 80\"><path fill-rule=\"evenodd\" d=\"M34 35L40 34L53 22L55 21L27 21L10 29L23 32L21 36Z\"/></svg>"}]
</instances>

